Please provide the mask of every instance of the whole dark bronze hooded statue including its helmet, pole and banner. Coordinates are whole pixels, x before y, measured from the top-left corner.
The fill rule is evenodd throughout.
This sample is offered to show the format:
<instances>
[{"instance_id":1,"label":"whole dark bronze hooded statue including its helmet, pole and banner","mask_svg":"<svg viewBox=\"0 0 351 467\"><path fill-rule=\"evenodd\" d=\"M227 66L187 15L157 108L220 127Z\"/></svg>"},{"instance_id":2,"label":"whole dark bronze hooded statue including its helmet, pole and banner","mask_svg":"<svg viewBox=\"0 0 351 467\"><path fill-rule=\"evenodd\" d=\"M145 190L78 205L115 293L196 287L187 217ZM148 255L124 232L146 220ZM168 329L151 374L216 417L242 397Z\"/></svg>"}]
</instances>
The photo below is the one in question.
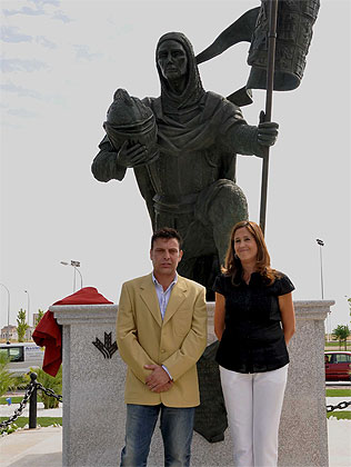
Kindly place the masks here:
<instances>
[{"instance_id":1,"label":"whole dark bronze hooded statue including its helmet, pole and banner","mask_svg":"<svg viewBox=\"0 0 351 467\"><path fill-rule=\"evenodd\" d=\"M204 285L209 300L213 299L211 288L223 264L230 231L249 217L245 196L235 182L237 155L263 159L262 190L267 192L268 148L275 142L278 125L270 121L269 106L258 126L245 122L239 106L251 102L250 89L267 87L269 3L263 0L261 8L244 13L198 57L184 34L162 36L156 51L161 96L139 100L119 89L104 122L107 135L92 163L93 176L100 181L121 181L127 169L133 169L152 229L169 226L181 234L184 256L179 272ZM282 71L275 67L273 89L293 89L301 80L301 60L319 6L318 0L283 3L280 1L279 8L287 14L278 24L283 26L284 43L277 48ZM297 24L307 47L303 54L299 46L291 60L288 46ZM248 61L252 69L247 86L228 99L205 91L198 63L242 40L251 41ZM297 64L298 73L287 70L292 64ZM262 195L263 229L265 199Z\"/></svg>"}]
</instances>

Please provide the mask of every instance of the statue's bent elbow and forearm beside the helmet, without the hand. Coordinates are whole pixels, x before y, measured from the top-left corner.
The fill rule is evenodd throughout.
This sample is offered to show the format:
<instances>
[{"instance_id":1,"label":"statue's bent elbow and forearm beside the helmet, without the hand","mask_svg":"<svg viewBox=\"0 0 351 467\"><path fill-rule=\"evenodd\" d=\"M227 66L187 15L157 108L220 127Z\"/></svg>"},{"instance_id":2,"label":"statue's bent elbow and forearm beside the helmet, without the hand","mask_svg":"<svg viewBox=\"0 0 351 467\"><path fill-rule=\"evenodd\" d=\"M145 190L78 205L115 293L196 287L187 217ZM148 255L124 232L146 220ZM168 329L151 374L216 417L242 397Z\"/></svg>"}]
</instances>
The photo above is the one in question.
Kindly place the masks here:
<instances>
[{"instance_id":1,"label":"statue's bent elbow and forearm beside the helmet, without the hand","mask_svg":"<svg viewBox=\"0 0 351 467\"><path fill-rule=\"evenodd\" d=\"M112 179L123 180L127 167L118 163L117 152L112 148L106 136L99 145L100 151L91 165L91 171L99 181L109 181Z\"/></svg>"}]
</instances>

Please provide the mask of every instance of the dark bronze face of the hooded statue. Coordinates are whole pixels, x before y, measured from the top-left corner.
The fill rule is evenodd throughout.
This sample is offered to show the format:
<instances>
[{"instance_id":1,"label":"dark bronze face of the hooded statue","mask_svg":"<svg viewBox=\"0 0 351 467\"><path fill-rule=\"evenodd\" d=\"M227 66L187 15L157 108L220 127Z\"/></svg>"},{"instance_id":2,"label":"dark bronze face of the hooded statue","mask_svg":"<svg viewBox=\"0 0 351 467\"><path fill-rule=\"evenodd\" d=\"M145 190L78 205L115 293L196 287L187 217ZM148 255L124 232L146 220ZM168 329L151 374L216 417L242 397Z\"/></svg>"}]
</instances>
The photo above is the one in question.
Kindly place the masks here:
<instances>
[{"instance_id":1,"label":"dark bronze face of the hooded statue","mask_svg":"<svg viewBox=\"0 0 351 467\"><path fill-rule=\"evenodd\" d=\"M178 79L187 74L188 57L177 40L166 40L158 49L158 66L166 79Z\"/></svg>"}]
</instances>

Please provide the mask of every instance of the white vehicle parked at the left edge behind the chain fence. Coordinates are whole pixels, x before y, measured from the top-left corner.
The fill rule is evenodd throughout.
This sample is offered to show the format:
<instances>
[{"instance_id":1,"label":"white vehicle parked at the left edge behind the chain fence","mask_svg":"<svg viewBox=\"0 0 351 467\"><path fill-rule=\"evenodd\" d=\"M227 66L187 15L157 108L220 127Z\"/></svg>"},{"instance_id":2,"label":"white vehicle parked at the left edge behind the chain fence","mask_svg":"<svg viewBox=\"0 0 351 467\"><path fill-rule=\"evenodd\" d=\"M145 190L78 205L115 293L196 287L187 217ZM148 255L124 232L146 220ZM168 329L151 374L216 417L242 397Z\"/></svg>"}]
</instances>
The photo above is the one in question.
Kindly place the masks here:
<instances>
[{"instance_id":1,"label":"white vehicle parked at the left edge behind the chain fence","mask_svg":"<svg viewBox=\"0 0 351 467\"><path fill-rule=\"evenodd\" d=\"M30 368L41 368L44 350L34 342L0 344L0 352L9 357L7 369L13 376L24 375Z\"/></svg>"}]
</instances>

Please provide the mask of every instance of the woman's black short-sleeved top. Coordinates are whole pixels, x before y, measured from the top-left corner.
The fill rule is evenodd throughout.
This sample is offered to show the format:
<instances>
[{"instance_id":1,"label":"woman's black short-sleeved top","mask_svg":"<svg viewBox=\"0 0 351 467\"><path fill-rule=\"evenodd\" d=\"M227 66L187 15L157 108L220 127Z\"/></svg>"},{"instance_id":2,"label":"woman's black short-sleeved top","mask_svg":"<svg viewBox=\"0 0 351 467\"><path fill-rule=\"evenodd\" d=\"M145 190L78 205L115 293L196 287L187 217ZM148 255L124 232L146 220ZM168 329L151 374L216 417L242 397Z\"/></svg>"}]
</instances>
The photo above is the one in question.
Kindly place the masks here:
<instances>
[{"instance_id":1,"label":"woman's black short-sleeved top","mask_svg":"<svg viewBox=\"0 0 351 467\"><path fill-rule=\"evenodd\" d=\"M282 272L272 285L259 272L249 285L241 280L234 286L225 275L215 278L213 290L225 297L225 329L215 357L221 367L261 372L289 362L278 297L293 289Z\"/></svg>"}]
</instances>

